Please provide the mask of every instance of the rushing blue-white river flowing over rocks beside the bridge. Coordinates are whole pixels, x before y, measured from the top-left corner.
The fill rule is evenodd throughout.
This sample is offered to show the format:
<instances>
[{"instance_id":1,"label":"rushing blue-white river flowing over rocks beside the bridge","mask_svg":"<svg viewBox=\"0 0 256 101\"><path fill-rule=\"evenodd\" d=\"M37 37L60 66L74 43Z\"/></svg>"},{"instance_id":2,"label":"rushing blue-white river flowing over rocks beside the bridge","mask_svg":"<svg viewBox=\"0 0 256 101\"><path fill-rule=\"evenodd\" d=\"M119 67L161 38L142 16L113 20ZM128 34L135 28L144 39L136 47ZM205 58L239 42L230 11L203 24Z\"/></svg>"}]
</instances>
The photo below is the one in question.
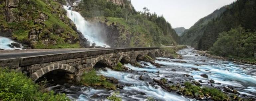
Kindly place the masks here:
<instances>
[{"instance_id":1,"label":"rushing blue-white river flowing over rocks beside the bridge","mask_svg":"<svg viewBox=\"0 0 256 101\"><path fill-rule=\"evenodd\" d=\"M213 87L222 89L224 86L233 87L238 90L242 96L255 98L256 96L256 66L242 63L233 63L232 61L223 61L212 59L196 54L197 50L187 48L180 50L178 53L183 59L157 58L155 62L166 65L156 68L150 63L144 66L145 62L139 62L144 68L133 67L125 64L132 71L118 72L111 69L102 69L97 71L98 74L114 77L119 80L121 85L125 85L123 89L117 89L123 101L145 101L147 97L153 97L160 101L193 101L195 99L178 95L176 91L168 92L159 85L154 85L152 79L167 78L173 84L185 81L202 80L202 86L211 86L209 80L215 83ZM180 63L178 61L185 61ZM195 71L192 68L197 68ZM158 73L159 71L159 73ZM188 74L190 76L184 76ZM200 76L208 75L208 78ZM144 80L140 80L139 76L143 76ZM113 93L113 90L104 88L93 88L82 85L62 84L49 87L59 93L66 93L67 97L73 101L107 101L106 97ZM99 97L90 98L97 94Z\"/></svg>"}]
</instances>

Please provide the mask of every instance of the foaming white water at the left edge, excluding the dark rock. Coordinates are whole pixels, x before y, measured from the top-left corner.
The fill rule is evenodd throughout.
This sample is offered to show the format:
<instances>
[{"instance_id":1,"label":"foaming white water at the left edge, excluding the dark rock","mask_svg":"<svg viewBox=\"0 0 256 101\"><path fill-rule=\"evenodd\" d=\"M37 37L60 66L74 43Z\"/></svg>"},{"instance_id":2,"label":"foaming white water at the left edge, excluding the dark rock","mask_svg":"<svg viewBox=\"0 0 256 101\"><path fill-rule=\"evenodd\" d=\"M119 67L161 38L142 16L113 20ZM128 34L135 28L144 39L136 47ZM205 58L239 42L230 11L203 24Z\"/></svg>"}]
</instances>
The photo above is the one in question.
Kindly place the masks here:
<instances>
[{"instance_id":1,"label":"foaming white water at the left edge, excluding the dark rock","mask_svg":"<svg viewBox=\"0 0 256 101\"><path fill-rule=\"evenodd\" d=\"M23 46L21 44L20 44L21 48L17 48L17 47L11 48L11 47L8 46L11 43L17 43L17 42L14 42L13 40L11 40L9 38L0 36L0 49L14 50L14 49L22 49L23 48Z\"/></svg>"}]
</instances>

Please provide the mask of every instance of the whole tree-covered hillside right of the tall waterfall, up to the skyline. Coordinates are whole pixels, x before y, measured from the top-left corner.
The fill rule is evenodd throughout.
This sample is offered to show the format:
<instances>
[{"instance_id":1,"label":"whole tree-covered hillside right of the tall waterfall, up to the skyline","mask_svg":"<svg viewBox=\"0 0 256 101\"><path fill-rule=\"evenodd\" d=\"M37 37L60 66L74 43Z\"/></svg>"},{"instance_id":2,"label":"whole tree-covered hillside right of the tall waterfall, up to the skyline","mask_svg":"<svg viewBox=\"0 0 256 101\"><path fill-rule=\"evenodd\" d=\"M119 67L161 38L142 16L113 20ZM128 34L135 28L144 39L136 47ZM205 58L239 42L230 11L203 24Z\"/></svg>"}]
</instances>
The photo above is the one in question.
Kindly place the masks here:
<instances>
[{"instance_id":1,"label":"whole tree-covered hillside right of the tall waterfall, up to the skyline","mask_svg":"<svg viewBox=\"0 0 256 101\"><path fill-rule=\"evenodd\" d=\"M120 35L120 39L125 42L127 37L130 38L131 47L180 43L179 36L162 15L149 13L147 7L143 11L136 11L131 1L123 1L124 4L117 5L106 0L83 0L78 6L83 8L80 13L85 18L104 17L125 26L129 35Z\"/></svg>"}]
</instances>

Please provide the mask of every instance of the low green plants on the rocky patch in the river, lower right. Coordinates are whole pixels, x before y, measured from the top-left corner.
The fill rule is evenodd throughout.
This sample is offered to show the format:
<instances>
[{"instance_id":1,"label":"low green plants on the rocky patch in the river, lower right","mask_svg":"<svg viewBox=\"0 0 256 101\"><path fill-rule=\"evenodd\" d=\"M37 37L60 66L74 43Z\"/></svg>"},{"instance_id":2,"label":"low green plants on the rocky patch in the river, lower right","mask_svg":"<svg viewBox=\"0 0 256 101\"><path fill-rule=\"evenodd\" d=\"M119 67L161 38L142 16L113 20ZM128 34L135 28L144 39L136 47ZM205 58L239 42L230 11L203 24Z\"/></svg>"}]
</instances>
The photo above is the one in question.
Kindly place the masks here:
<instances>
[{"instance_id":1,"label":"low green plants on the rocky patch in the river, lower right","mask_svg":"<svg viewBox=\"0 0 256 101\"><path fill-rule=\"evenodd\" d=\"M211 96L215 101L229 101L229 96L216 88L208 88L192 85L190 82L185 82L185 94L196 97Z\"/></svg>"}]
</instances>

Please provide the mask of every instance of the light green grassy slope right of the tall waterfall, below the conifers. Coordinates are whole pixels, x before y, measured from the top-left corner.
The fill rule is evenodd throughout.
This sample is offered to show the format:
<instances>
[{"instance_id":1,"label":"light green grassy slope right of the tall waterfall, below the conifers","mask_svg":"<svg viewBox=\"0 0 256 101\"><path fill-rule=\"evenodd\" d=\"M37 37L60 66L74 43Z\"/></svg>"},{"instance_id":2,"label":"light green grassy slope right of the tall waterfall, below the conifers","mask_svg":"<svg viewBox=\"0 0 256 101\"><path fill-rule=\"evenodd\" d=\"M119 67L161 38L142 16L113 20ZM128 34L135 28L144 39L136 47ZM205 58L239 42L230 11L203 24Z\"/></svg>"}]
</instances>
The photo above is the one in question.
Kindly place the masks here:
<instances>
[{"instance_id":1,"label":"light green grassy slope right of the tall waterfall, below the conifers","mask_svg":"<svg viewBox=\"0 0 256 101\"><path fill-rule=\"evenodd\" d=\"M168 37L168 36L163 36L162 34L160 34L162 32L162 30L158 27L158 25L156 25L153 22L150 22L148 20L144 20L144 25L134 25L131 24L129 25L129 22L133 22L133 21L126 21L123 18L114 18L114 17L107 17L108 22L107 24L110 25L112 23L118 23L119 26L124 26L125 30L127 30L129 32L129 34L132 35L131 41L130 41L130 47L138 47L138 46L160 46L160 44L162 43L163 45L170 45L168 43L174 43L177 44L175 42L175 40L173 39L173 37ZM151 33L150 29L157 29L158 32L156 33ZM158 34L159 40L154 40L154 35L152 34ZM126 36L125 34L121 34L119 36L119 39L121 40L126 40ZM168 39L168 42L163 42L161 39ZM136 42L138 41L138 42ZM138 43L138 44L136 44Z\"/></svg>"}]
</instances>

